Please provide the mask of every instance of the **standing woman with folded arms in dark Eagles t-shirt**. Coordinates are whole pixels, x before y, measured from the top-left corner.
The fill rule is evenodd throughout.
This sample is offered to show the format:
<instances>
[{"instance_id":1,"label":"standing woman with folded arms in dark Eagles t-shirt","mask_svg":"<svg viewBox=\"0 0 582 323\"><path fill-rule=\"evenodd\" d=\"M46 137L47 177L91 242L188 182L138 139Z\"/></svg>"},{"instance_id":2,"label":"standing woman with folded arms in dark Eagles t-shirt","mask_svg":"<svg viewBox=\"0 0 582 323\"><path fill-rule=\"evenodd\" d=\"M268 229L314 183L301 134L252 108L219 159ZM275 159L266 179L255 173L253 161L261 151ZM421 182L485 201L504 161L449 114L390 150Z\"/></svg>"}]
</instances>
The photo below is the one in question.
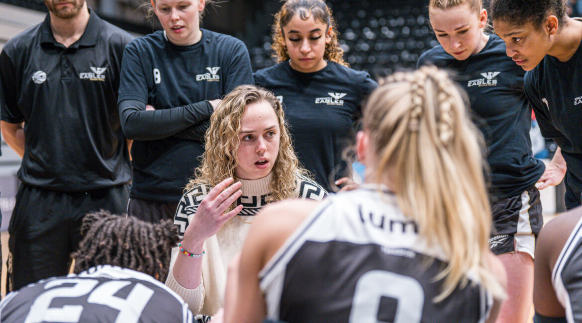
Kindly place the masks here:
<instances>
[{"instance_id":1,"label":"standing woman with folded arms in dark Eagles t-shirt","mask_svg":"<svg viewBox=\"0 0 582 323\"><path fill-rule=\"evenodd\" d=\"M172 219L204 152L219 98L253 84L249 53L234 37L200 28L205 0L155 0L164 31L127 45L119 86L123 132L134 139L127 213Z\"/></svg>"}]
</instances>

